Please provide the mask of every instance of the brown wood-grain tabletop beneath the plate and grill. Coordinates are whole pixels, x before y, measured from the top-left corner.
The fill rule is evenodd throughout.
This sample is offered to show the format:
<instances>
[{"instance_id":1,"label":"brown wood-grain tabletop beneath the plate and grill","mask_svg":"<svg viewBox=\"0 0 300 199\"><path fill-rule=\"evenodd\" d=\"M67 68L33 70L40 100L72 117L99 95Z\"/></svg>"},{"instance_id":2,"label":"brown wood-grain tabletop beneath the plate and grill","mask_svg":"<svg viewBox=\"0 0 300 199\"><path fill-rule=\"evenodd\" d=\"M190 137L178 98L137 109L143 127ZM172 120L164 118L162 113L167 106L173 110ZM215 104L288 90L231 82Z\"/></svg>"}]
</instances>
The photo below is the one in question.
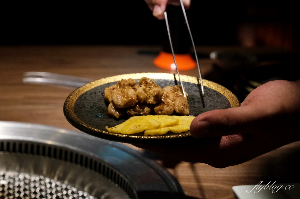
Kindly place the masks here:
<instances>
[{"instance_id":1,"label":"brown wood-grain tabletop beneath the plate and grill","mask_svg":"<svg viewBox=\"0 0 300 199\"><path fill-rule=\"evenodd\" d=\"M218 48L198 47L201 52L216 49ZM153 51L159 48L147 46L1 47L0 120L38 123L77 130L67 122L62 110L64 100L72 90L49 85L23 84L23 73L44 71L100 79L127 73L173 72L155 67L152 63L155 55L139 54L137 53L139 50ZM211 61L200 59L199 62L205 77L212 69ZM195 76L197 69L182 71L181 74ZM299 181L299 163L293 161L296 160L297 155L299 158L299 149L300 143L292 143L246 163L225 169L216 169L203 163L180 162L174 168L169 168L169 171L178 179L185 194L190 198L231 199L234 198L231 187L235 185L257 184L259 181L282 183Z\"/></svg>"}]
</instances>

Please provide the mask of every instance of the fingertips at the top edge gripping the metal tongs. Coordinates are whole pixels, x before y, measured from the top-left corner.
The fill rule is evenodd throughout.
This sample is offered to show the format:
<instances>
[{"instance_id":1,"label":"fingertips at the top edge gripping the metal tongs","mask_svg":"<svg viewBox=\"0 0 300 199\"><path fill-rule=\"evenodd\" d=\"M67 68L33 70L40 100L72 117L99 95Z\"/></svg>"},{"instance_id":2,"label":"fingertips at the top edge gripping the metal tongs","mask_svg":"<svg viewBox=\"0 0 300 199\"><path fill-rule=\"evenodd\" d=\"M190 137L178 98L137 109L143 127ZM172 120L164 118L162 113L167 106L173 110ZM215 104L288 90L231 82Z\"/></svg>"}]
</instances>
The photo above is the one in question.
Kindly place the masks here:
<instances>
[{"instance_id":1,"label":"fingertips at the top edge gripping the metal tongs","mask_svg":"<svg viewBox=\"0 0 300 199\"><path fill-rule=\"evenodd\" d=\"M153 13L153 16L155 16L158 19L164 19L164 12L166 10L167 4L171 5L180 5L179 0L145 0L148 4L148 7ZM184 5L185 9L190 8L190 0L182 0L182 3Z\"/></svg>"}]
</instances>

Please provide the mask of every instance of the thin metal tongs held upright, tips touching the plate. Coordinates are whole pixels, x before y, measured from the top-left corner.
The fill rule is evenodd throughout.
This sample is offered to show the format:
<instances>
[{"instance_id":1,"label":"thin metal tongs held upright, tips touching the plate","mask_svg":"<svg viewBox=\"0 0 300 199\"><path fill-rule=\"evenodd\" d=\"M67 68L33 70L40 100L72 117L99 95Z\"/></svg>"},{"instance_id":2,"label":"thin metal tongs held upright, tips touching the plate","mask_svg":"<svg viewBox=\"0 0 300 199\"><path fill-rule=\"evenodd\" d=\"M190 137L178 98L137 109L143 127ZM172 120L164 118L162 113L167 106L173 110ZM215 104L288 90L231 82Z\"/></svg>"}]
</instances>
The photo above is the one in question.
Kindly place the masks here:
<instances>
[{"instance_id":1,"label":"thin metal tongs held upright, tips touching the plate","mask_svg":"<svg viewBox=\"0 0 300 199\"><path fill-rule=\"evenodd\" d=\"M194 40L193 40L192 33L190 32L190 26L189 26L188 21L187 21L187 15L186 15L186 13L185 13L185 10L184 10L184 6L183 6L183 3L182 3L182 0L180 0L180 4L181 4L181 7L182 7L182 11L183 11L183 15L184 15L185 22L186 22L186 24L187 24L187 29L188 29L188 31L189 31L189 33L190 33L190 39L192 40L192 44L193 44L193 48L194 48L194 52L195 52L195 56L196 56L196 62L197 62L197 66L198 66L198 71L199 71L199 78L200 78L200 84L201 84L201 92L202 92L202 96L203 96L203 95L204 95L204 88L203 88L202 76L201 76L201 71L200 71L199 61L198 61L198 57L197 57L197 53L196 53L196 48L195 48L195 44L194 44ZM176 59L175 59L175 54L174 54L173 45L172 45L172 40L171 40L171 35L170 35L170 28L169 28L169 22L168 22L167 12L164 12L164 14L165 14L165 20L166 20L166 24L167 24L168 36L169 36L170 46L171 46L171 50L172 50L172 54L173 54L173 59L174 59L174 63L175 63L176 70L177 70L177 74L178 74L178 77L179 77L179 82L180 82L180 84L181 84L181 88L182 88L182 91L183 91L183 95L184 95L184 97L186 97L185 91L184 91L184 87L183 87L182 81L181 81L181 79L180 79L180 74L179 74L179 70L178 70L178 67L177 67ZM202 97L202 96L201 96L201 97Z\"/></svg>"}]
</instances>

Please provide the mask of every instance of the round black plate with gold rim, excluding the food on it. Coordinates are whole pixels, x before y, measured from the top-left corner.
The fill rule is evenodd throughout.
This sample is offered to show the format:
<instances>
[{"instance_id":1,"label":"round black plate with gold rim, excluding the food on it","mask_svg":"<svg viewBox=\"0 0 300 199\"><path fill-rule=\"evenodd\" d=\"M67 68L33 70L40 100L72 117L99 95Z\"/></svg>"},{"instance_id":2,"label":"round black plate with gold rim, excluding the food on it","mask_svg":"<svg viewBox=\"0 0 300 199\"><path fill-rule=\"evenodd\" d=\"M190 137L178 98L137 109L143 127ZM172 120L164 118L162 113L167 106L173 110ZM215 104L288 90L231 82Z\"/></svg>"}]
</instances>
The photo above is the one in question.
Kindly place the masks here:
<instances>
[{"instance_id":1,"label":"round black plate with gold rim, excluding the food on it","mask_svg":"<svg viewBox=\"0 0 300 199\"><path fill-rule=\"evenodd\" d=\"M124 74L88 83L73 91L64 102L64 116L68 122L80 131L106 140L131 144L160 144L167 142L185 142L193 140L190 132L179 134L167 133L162 136L143 136L143 133L123 135L107 132L106 126L112 127L123 123L128 117L116 119L108 114L108 104L104 100L104 89L121 79L133 78L138 82L142 77L154 79L162 88L176 85L178 75L168 73ZM240 106L237 97L225 87L203 79L204 97L201 100L199 80L197 77L181 75L183 86L188 93L190 115L197 116L205 111Z\"/></svg>"}]
</instances>

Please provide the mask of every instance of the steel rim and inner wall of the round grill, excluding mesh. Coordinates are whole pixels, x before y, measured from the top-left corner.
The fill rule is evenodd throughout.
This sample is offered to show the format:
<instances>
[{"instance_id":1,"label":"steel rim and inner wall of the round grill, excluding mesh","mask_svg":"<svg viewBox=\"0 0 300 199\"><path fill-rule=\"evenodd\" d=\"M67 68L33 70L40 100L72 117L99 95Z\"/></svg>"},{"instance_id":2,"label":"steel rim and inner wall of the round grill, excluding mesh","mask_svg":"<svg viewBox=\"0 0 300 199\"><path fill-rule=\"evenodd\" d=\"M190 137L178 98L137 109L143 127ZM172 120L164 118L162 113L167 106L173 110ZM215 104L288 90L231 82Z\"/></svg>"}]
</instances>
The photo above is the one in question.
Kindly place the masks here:
<instances>
[{"instance_id":1,"label":"steel rim and inner wall of the round grill, excluding mesh","mask_svg":"<svg viewBox=\"0 0 300 199\"><path fill-rule=\"evenodd\" d=\"M77 131L0 121L0 155L6 155L10 159L13 156L27 159L40 158L48 165L67 164L66 168L75 166L77 169L83 169L84 172L90 172L89 177L82 178L93 179L96 174L105 177L134 199L185 197L178 181L167 170L143 157L139 152L122 144ZM23 159L26 160L26 158ZM33 168L38 168L38 166ZM57 168L52 169L57 172ZM0 168L0 171L2 170L3 168ZM21 170L12 171L25 171ZM44 175L36 171L34 174ZM65 180L61 179L60 181ZM73 181L76 181L76 178ZM85 188L87 184L88 182L82 185L82 188L87 189ZM93 190L92 185L88 187ZM97 197L96 193L91 193L91 191L88 193Z\"/></svg>"}]
</instances>

